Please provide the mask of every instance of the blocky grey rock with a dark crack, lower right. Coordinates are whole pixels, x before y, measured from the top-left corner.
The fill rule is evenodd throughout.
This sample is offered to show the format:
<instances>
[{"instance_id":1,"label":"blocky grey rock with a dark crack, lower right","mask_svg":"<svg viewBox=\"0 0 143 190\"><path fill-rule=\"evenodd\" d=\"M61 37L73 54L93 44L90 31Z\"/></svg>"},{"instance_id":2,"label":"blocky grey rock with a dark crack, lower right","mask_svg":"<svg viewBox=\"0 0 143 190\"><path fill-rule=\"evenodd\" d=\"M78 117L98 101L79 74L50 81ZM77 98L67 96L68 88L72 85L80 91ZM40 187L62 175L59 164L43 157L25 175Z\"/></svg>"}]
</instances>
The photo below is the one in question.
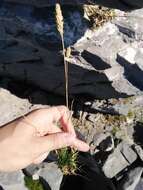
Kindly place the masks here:
<instances>
[{"instance_id":1,"label":"blocky grey rock with a dark crack, lower right","mask_svg":"<svg viewBox=\"0 0 143 190\"><path fill-rule=\"evenodd\" d=\"M125 142L120 143L105 161L102 170L108 178L113 178L137 159L136 153Z\"/></svg>"}]
</instances>

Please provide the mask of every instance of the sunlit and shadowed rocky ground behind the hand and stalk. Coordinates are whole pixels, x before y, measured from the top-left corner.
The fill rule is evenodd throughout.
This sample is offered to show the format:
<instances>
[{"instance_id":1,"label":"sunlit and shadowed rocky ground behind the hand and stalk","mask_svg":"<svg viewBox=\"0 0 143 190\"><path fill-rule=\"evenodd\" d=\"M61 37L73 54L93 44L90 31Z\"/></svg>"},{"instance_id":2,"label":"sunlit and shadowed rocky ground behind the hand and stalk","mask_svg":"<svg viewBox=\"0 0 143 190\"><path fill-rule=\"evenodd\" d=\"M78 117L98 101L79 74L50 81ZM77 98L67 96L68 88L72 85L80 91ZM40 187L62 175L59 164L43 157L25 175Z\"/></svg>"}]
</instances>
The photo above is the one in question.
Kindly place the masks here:
<instances>
[{"instance_id":1,"label":"sunlit and shadowed rocky ground behind the hand and stalk","mask_svg":"<svg viewBox=\"0 0 143 190\"><path fill-rule=\"evenodd\" d=\"M64 104L63 57L54 7L31 2L36 7L0 6L0 125L37 107ZM65 44L71 47L67 61L73 123L116 189L141 190L143 9L125 13L128 7L120 3L116 8L120 10L115 9L112 21L91 29L82 6L63 6ZM4 190L25 190L25 174L40 176L52 190L59 190L63 178L55 163L45 162L24 172L0 173L0 184Z\"/></svg>"}]
</instances>

